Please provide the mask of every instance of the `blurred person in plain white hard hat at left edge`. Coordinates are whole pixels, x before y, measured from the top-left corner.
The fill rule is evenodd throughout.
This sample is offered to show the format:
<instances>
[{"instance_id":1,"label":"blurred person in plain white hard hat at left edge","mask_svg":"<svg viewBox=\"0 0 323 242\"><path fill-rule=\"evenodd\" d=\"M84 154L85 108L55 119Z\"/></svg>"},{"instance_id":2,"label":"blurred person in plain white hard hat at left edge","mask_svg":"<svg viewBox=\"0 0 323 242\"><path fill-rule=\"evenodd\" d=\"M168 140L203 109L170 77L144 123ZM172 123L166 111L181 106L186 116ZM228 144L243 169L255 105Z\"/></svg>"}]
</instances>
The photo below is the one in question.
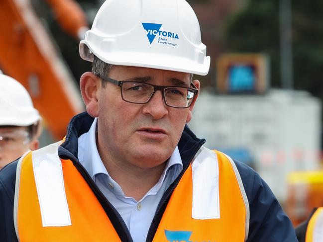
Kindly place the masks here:
<instances>
[{"instance_id":1,"label":"blurred person in plain white hard hat at left edge","mask_svg":"<svg viewBox=\"0 0 323 242\"><path fill-rule=\"evenodd\" d=\"M28 150L38 149L40 120L27 90L0 74L0 169Z\"/></svg>"}]
</instances>

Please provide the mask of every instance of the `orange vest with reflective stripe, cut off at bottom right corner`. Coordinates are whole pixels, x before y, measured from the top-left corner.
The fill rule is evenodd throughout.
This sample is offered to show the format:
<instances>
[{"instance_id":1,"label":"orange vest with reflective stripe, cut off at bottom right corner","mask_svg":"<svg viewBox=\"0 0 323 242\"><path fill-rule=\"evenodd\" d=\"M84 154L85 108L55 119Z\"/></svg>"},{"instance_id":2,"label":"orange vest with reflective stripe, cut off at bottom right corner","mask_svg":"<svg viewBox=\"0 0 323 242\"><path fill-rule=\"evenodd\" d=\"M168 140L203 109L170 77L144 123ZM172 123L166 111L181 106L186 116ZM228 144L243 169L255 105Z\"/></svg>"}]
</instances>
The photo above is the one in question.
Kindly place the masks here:
<instances>
[{"instance_id":1,"label":"orange vest with reflective stripe, cut off at bottom right corner","mask_svg":"<svg viewBox=\"0 0 323 242\"><path fill-rule=\"evenodd\" d=\"M306 230L305 242L323 241L323 207L318 208L311 217Z\"/></svg>"}]
</instances>

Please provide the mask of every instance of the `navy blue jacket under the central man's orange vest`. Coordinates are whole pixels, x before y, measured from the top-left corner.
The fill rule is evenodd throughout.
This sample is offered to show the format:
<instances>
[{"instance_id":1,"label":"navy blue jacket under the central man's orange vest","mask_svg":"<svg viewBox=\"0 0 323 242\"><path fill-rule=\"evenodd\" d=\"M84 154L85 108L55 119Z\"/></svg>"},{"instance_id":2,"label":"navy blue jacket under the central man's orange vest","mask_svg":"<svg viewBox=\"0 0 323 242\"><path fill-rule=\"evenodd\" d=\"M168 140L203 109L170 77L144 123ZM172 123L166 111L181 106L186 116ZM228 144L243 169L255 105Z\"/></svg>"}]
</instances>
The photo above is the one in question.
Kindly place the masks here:
<instances>
[{"instance_id":1,"label":"navy blue jacket under the central man's orange vest","mask_svg":"<svg viewBox=\"0 0 323 242\"><path fill-rule=\"evenodd\" d=\"M121 216L108 202L92 180L91 176L77 159L78 137L88 132L92 122L93 118L87 113L81 113L75 116L69 124L66 141L58 149L58 155L61 159L73 161L75 167L83 175L96 194L121 241L132 242L130 233ZM182 173L184 173L193 157L204 143L205 140L198 139L188 127L185 127L178 144L184 166ZM246 242L297 242L294 228L289 218L283 212L268 185L253 169L238 161L234 162L240 173L250 206L250 227L249 236ZM14 161L6 165L0 171L0 242L17 241L13 225L16 166L17 161ZM178 184L180 177L181 175L179 175L178 179L176 179L165 191L150 226L146 240L147 242L152 241L169 201L169 197ZM232 233L234 233L234 228L232 228ZM230 240L228 239L228 242L229 241Z\"/></svg>"}]
</instances>

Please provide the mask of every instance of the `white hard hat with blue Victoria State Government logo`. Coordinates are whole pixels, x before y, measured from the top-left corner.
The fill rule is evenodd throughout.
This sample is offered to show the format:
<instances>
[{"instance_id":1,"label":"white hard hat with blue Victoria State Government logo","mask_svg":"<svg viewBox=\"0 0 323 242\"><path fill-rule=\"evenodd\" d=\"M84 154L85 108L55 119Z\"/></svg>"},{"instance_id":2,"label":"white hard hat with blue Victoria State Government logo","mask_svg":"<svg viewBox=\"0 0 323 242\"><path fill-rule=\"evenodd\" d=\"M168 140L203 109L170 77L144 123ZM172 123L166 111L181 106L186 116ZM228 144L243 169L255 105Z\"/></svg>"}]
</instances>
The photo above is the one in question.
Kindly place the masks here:
<instances>
[{"instance_id":1,"label":"white hard hat with blue Victoria State Government logo","mask_svg":"<svg viewBox=\"0 0 323 242\"><path fill-rule=\"evenodd\" d=\"M207 75L210 57L199 21L185 0L106 0L80 42L93 62Z\"/></svg>"}]
</instances>

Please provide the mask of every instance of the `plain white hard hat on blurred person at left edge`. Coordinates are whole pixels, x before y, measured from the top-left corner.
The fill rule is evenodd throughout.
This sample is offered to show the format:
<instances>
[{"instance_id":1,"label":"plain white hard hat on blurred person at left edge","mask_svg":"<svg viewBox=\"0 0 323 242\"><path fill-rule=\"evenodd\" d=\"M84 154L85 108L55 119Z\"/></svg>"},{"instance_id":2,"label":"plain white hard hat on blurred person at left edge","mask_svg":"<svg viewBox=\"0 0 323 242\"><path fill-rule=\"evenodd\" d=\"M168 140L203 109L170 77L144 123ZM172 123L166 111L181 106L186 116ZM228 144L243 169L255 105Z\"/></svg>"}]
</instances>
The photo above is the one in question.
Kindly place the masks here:
<instances>
[{"instance_id":1,"label":"plain white hard hat on blurred person at left edge","mask_svg":"<svg viewBox=\"0 0 323 242\"><path fill-rule=\"evenodd\" d=\"M40 119L23 85L0 74L0 126L29 126Z\"/></svg>"}]
</instances>

